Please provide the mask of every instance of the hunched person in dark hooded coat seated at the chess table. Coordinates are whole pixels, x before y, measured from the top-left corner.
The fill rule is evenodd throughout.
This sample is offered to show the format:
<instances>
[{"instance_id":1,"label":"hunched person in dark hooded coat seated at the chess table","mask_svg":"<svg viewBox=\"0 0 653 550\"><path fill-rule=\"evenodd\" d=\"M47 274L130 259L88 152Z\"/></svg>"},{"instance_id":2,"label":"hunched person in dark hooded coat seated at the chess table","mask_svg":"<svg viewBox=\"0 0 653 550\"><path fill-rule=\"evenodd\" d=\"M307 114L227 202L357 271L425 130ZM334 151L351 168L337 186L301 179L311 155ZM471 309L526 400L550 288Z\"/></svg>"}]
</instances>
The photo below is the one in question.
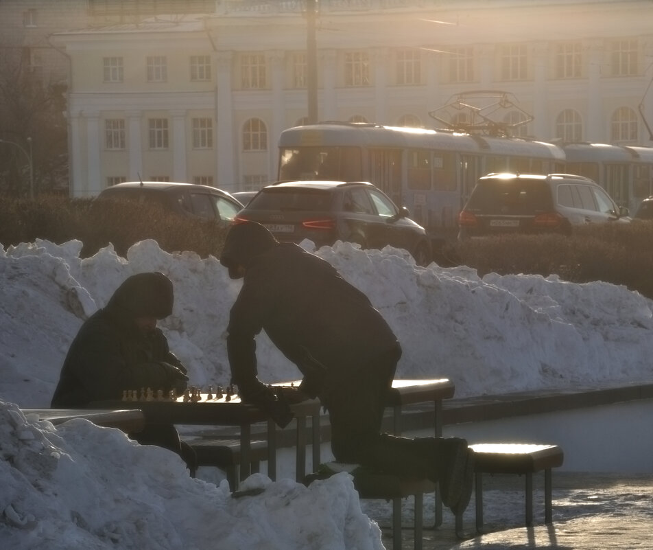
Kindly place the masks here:
<instances>
[{"instance_id":1,"label":"hunched person in dark hooded coat seated at the chess table","mask_svg":"<svg viewBox=\"0 0 653 550\"><path fill-rule=\"evenodd\" d=\"M95 312L73 340L51 406L84 407L94 401L121 400L123 391L186 389L187 370L169 350L156 321L172 313L172 282L163 273L128 277L105 308ZM192 452L182 450L174 426L147 424L131 437L141 444L177 452L194 467Z\"/></svg>"}]
</instances>

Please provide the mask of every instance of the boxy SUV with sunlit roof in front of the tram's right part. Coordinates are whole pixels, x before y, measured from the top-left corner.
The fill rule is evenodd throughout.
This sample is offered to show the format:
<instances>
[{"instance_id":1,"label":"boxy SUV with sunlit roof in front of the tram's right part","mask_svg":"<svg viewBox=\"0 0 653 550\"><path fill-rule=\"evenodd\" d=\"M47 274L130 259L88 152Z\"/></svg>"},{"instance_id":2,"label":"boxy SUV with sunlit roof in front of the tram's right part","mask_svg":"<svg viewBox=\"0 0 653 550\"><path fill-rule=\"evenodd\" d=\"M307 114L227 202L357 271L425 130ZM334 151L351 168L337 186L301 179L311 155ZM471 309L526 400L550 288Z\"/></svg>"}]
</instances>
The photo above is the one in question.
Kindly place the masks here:
<instances>
[{"instance_id":1,"label":"boxy SUV with sunlit roof in front of the tram's right part","mask_svg":"<svg viewBox=\"0 0 653 550\"><path fill-rule=\"evenodd\" d=\"M578 225L630 222L628 209L591 179L571 174L488 174L458 216L459 238L499 233L568 235Z\"/></svg>"}]
</instances>

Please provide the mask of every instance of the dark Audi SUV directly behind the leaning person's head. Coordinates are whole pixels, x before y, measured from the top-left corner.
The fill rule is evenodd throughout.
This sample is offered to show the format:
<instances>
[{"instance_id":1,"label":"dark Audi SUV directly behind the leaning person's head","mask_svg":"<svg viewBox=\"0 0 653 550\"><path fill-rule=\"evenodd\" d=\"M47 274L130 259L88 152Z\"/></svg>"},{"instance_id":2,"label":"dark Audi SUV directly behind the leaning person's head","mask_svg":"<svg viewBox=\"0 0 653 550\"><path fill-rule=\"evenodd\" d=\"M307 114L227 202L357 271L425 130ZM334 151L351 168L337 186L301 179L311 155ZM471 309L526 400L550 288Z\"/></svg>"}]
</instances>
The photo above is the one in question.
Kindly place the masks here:
<instances>
[{"instance_id":1,"label":"dark Audi SUV directly behind the leaning person's head","mask_svg":"<svg viewBox=\"0 0 653 550\"><path fill-rule=\"evenodd\" d=\"M408 216L405 207L397 207L371 183L283 181L263 187L236 222L259 222L278 240L309 239L318 247L337 240L369 249L390 244L426 265L431 262L429 238Z\"/></svg>"}]
</instances>

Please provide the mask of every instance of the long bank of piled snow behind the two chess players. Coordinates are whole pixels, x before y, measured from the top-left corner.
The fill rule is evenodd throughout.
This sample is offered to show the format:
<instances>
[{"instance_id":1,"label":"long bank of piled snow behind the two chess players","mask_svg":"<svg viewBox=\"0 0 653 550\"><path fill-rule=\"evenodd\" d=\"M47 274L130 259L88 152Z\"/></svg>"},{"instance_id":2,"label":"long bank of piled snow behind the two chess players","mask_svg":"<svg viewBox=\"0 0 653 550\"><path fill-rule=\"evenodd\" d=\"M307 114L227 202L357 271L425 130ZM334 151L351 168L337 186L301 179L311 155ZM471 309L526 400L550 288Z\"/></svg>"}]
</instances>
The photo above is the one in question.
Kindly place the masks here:
<instances>
[{"instance_id":1,"label":"long bank of piled snow behind the two chess players","mask_svg":"<svg viewBox=\"0 0 653 550\"><path fill-rule=\"evenodd\" d=\"M481 278L467 267L417 266L392 247L302 246L383 314L403 348L397 378L450 378L456 397L650 379L653 302L627 288L556 276ZM127 257L107 247L82 259L81 249L79 241L43 240L0 247L0 399L49 406L84 319L143 271L161 271L174 284L174 312L160 326L191 383L228 383L225 331L241 282L215 257L167 253L152 240L134 244ZM257 350L261 380L300 377L264 333Z\"/></svg>"}]
</instances>

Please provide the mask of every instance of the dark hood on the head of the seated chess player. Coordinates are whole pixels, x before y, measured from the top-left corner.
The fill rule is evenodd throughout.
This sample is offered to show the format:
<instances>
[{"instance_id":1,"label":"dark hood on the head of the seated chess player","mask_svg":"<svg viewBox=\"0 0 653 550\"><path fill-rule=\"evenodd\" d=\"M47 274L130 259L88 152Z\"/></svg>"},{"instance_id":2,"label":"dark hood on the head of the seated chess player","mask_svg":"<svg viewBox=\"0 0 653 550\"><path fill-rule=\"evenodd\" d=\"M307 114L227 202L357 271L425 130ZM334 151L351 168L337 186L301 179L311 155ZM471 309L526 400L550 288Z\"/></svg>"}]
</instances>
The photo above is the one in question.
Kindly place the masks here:
<instances>
[{"instance_id":1,"label":"dark hood on the head of the seated chess player","mask_svg":"<svg viewBox=\"0 0 653 550\"><path fill-rule=\"evenodd\" d=\"M120 317L163 319L172 313L172 282L163 273L137 273L121 284L106 305Z\"/></svg>"}]
</instances>

